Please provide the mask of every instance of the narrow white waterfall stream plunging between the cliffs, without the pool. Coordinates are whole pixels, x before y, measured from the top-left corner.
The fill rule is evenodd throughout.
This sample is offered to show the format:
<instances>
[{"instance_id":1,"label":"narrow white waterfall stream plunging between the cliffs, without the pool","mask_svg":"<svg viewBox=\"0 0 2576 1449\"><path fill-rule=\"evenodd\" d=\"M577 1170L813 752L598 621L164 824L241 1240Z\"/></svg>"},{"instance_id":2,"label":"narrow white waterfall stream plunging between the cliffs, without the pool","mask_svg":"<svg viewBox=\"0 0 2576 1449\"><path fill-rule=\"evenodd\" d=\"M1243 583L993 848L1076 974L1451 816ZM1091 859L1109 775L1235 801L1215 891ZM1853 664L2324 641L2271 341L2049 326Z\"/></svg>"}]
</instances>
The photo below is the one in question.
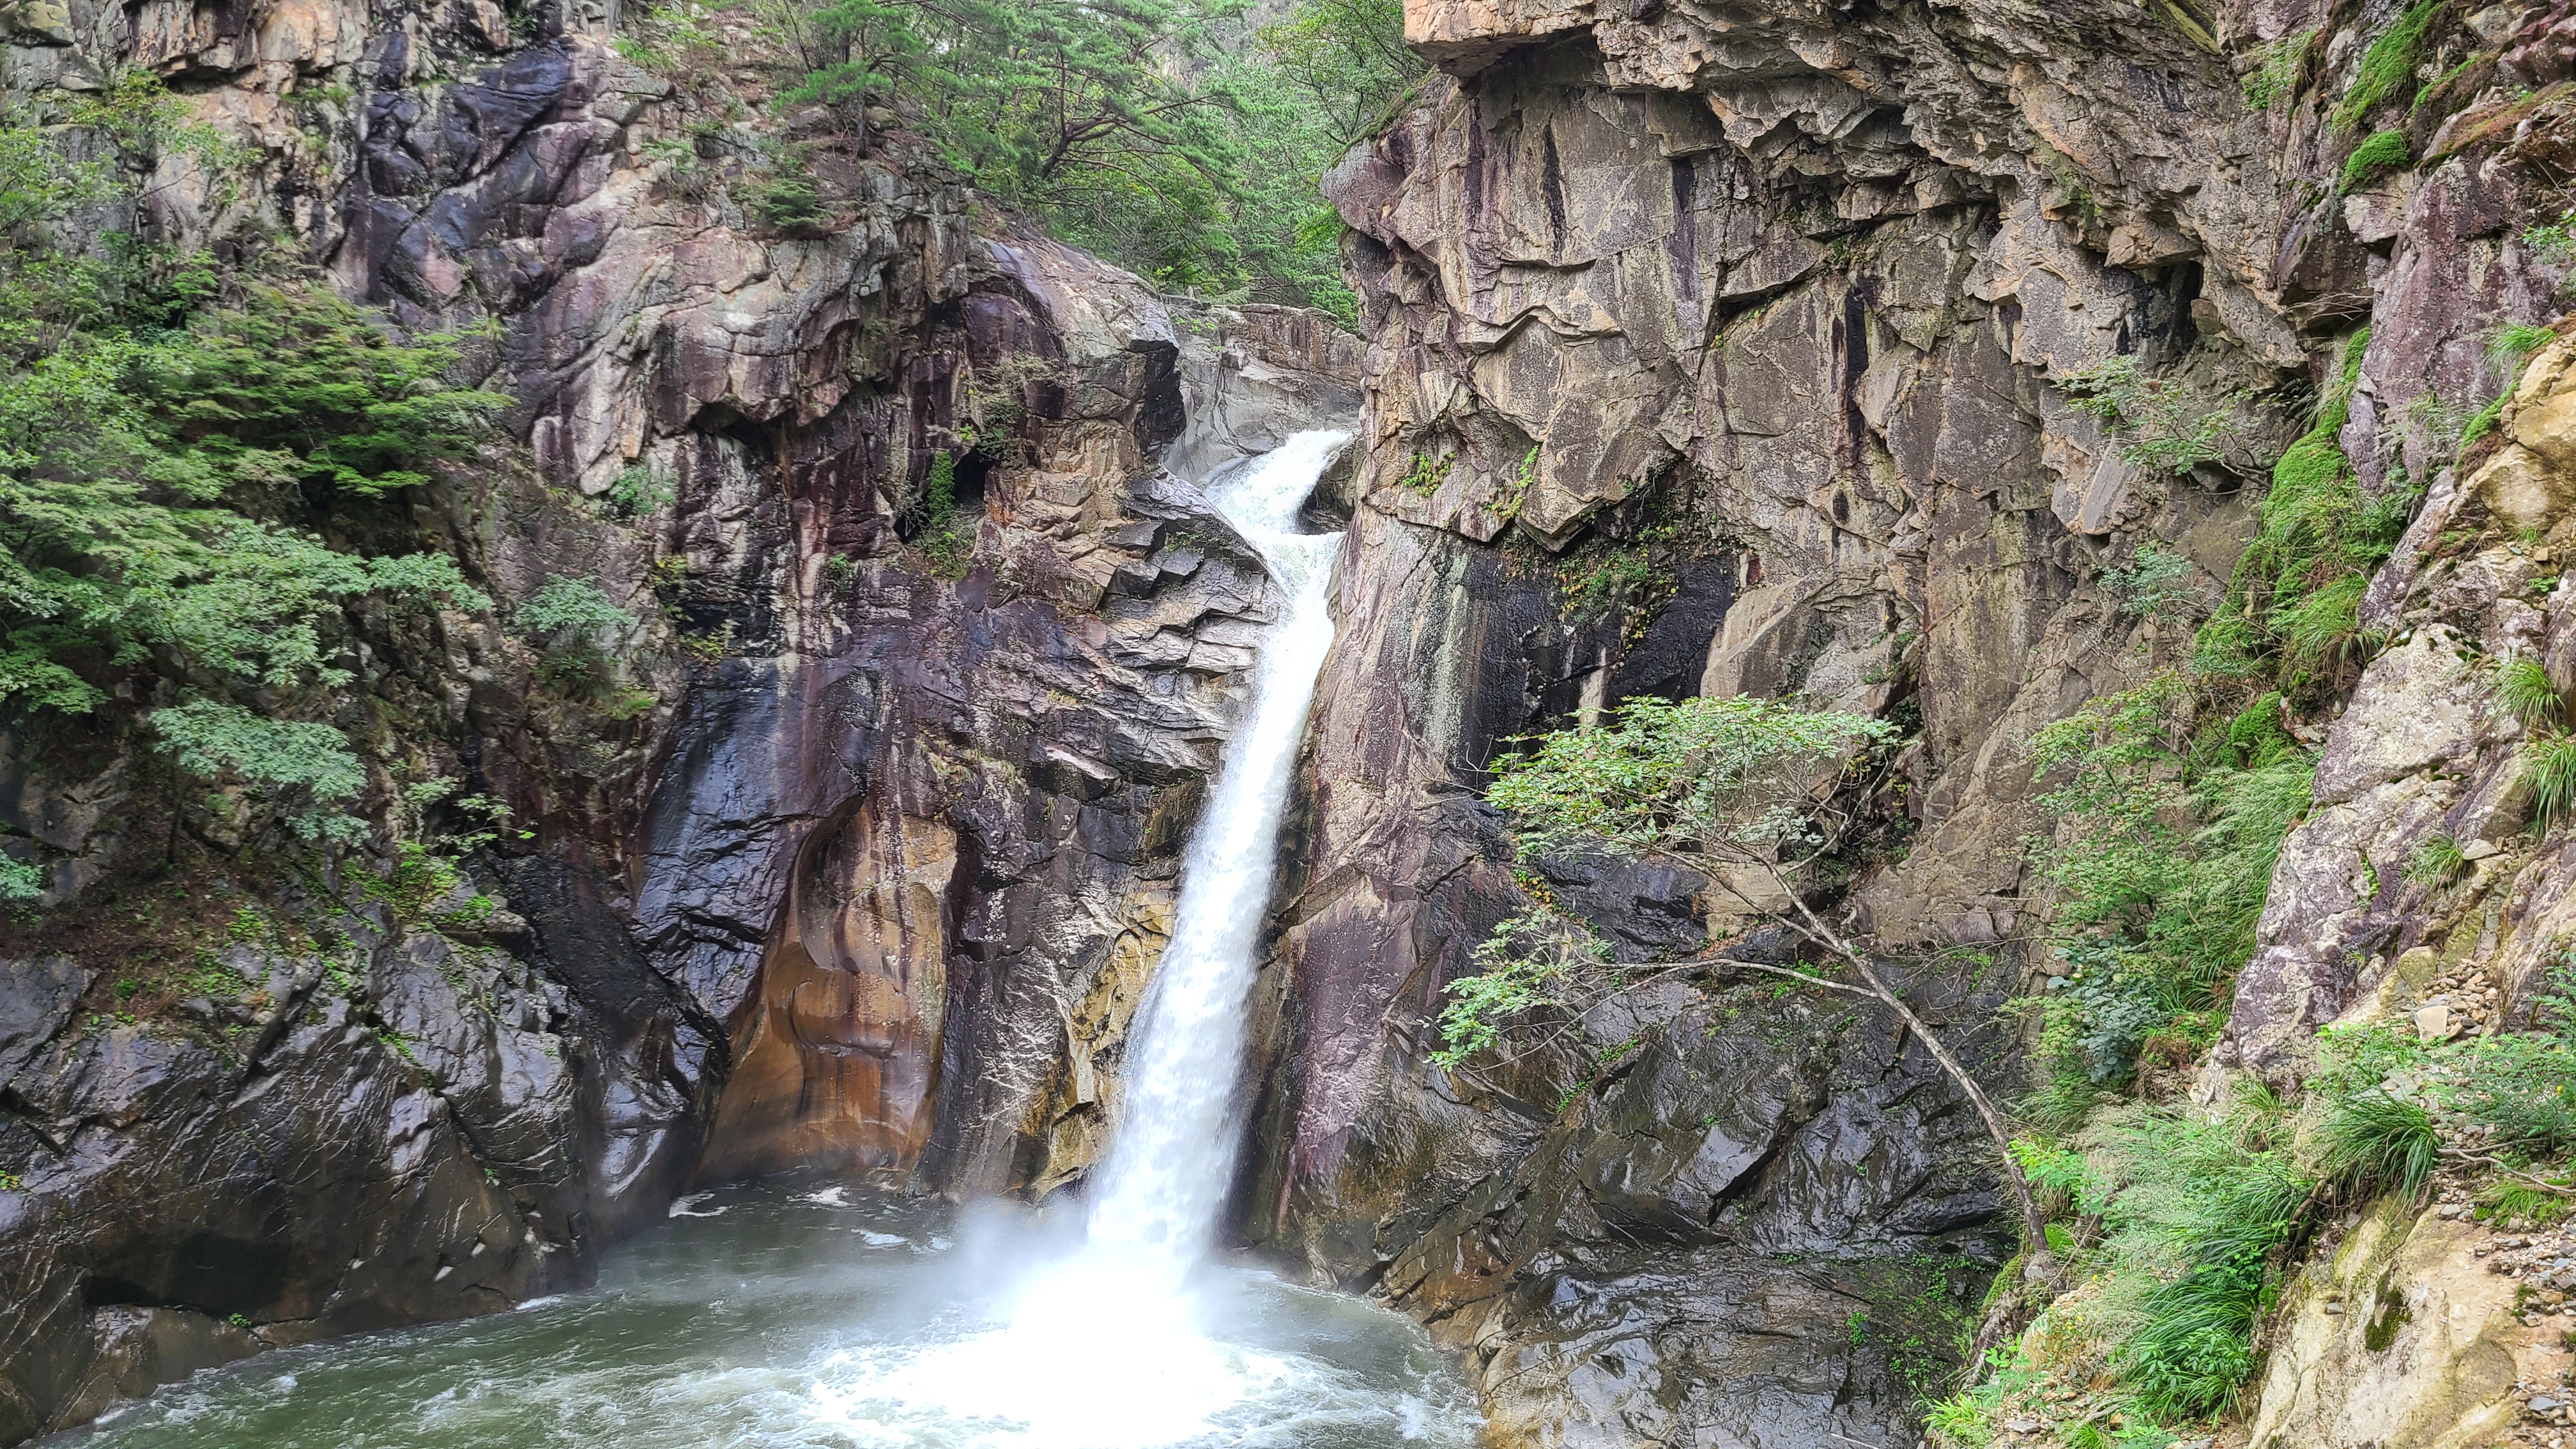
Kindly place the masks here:
<instances>
[{"instance_id":1,"label":"narrow white waterfall stream plunging between the cliffs, without the pool","mask_svg":"<svg viewBox=\"0 0 2576 1449\"><path fill-rule=\"evenodd\" d=\"M1213 503L1262 552L1278 619L1262 634L1244 727L1226 745L1180 871L1172 941L1128 1034L1118 1134L1095 1173L1090 1243L1128 1271L1177 1279L1208 1245L1234 1173L1234 1078L1255 944L1270 908L1280 810L1306 737L1306 706L1332 650L1324 590L1340 534L1298 534L1314 480L1350 438L1298 433Z\"/></svg>"}]
</instances>

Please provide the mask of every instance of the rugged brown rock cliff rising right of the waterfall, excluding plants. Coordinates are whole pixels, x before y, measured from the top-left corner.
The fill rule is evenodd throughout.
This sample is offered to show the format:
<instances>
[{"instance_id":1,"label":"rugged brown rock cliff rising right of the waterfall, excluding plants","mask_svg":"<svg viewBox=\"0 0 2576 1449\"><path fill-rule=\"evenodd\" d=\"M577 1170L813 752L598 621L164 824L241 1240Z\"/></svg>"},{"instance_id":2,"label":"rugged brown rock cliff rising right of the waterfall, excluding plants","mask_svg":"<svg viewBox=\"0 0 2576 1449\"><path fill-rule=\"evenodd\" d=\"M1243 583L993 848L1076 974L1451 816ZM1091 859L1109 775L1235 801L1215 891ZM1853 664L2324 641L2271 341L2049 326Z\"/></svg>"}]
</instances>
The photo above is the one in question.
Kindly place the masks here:
<instances>
[{"instance_id":1,"label":"rugged brown rock cliff rising right of the waterfall, excluding plants","mask_svg":"<svg viewBox=\"0 0 2576 1449\"><path fill-rule=\"evenodd\" d=\"M1839 920L1927 962L1935 1024L2012 1080L1991 1006L2045 964L2025 835L2050 822L2025 745L2190 660L2187 621L2123 608L2105 575L2151 541L2215 603L2269 459L2362 325L2334 441L2365 495L2432 490L2362 608L2401 647L2354 673L2349 709L2290 722L2324 745L2318 810L2205 1093L2295 1065L2393 962L2434 959L2416 938L2483 964L2522 931L2496 985L2527 1000L2558 866L2524 864L2517 730L2439 627L2566 678L2563 590L2537 598L2558 482L2488 464L2488 492L2530 495L2506 518L2460 503L2478 485L2455 456L2512 382L2496 327L2558 315L2566 248L2527 229L2563 206L2576 52L2563 5L2442 10L2409 75L2339 113L2393 21L1406 5L1440 75L1327 178L1363 294L1368 459L1242 1209L1252 1238L1471 1348L1497 1441L1906 1441L1909 1323L1994 1266L1996 1201L1919 1044L1723 964L1507 1067L1427 1065L1443 985L1525 892L1638 962L1744 923L1705 882L1633 866L1515 879L1530 866L1476 802L1494 750L1636 694L1919 722ZM2419 160L2342 175L2372 126ZM2076 405L2115 358L2223 407L2221 456L2130 456ZM2460 554L2445 529L2486 541L2424 575L2427 552ZM2380 884L2439 828L2488 841L2450 890L2530 926L2488 905L2478 936L2455 926L2478 910Z\"/></svg>"}]
</instances>

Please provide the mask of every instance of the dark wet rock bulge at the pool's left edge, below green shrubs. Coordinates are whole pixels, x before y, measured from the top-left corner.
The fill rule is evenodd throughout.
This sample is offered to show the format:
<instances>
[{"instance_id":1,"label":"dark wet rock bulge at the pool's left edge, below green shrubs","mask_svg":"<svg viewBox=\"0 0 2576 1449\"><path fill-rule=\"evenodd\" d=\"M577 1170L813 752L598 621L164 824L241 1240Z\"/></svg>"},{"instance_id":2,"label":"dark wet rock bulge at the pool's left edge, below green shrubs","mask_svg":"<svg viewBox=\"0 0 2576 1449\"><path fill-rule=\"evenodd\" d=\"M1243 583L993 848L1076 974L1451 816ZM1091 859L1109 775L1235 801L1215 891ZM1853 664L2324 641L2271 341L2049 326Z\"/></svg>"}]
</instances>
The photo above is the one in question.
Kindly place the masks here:
<instances>
[{"instance_id":1,"label":"dark wet rock bulge at the pool's left edge, below green shrubs","mask_svg":"<svg viewBox=\"0 0 2576 1449\"><path fill-rule=\"evenodd\" d=\"M0 1119L0 1434L258 1348L587 1279L592 1209L634 1183L585 1163L585 1088L616 1067L582 1083L574 1055L618 1034L518 957L348 928L355 972L250 946L209 967L265 993L245 1021L88 1006L13 1039L36 1049Z\"/></svg>"}]
</instances>

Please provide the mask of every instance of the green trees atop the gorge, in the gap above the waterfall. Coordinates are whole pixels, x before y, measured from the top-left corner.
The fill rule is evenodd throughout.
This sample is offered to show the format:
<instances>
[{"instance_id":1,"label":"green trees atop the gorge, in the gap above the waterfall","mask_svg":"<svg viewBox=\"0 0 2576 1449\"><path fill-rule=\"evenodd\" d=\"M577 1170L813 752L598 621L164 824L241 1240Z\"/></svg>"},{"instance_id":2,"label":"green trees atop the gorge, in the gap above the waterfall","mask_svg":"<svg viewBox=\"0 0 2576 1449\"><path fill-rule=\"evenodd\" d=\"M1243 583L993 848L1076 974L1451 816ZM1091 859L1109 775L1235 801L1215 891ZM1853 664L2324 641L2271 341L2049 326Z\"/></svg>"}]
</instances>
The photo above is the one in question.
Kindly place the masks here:
<instances>
[{"instance_id":1,"label":"green trees atop the gorge, in the gap above the waterfall","mask_svg":"<svg viewBox=\"0 0 2576 1449\"><path fill-rule=\"evenodd\" d=\"M762 0L801 57L783 106L866 129L891 103L987 193L1164 286L1319 302L1350 315L1316 180L1422 75L1391 0L1303 0L1239 36L1231 0ZM657 21L683 67L680 28ZM819 199L747 191L778 224Z\"/></svg>"}]
</instances>

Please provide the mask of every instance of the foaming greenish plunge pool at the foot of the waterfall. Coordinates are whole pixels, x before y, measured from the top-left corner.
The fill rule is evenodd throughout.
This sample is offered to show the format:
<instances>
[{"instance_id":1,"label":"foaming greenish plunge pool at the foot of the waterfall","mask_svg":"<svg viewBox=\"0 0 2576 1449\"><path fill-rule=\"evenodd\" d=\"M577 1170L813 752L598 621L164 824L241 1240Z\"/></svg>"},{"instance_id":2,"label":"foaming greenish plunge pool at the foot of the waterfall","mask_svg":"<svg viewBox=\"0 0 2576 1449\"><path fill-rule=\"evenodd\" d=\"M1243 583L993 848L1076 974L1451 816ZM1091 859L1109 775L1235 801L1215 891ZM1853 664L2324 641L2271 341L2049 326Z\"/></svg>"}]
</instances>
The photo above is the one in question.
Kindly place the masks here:
<instances>
[{"instance_id":1,"label":"foaming greenish plunge pool at the foot of the waterfall","mask_svg":"<svg viewBox=\"0 0 2576 1449\"><path fill-rule=\"evenodd\" d=\"M263 1354L82 1449L1473 1444L1409 1320L1208 1269L1149 1299L850 1189L726 1189L518 1312Z\"/></svg>"}]
</instances>

